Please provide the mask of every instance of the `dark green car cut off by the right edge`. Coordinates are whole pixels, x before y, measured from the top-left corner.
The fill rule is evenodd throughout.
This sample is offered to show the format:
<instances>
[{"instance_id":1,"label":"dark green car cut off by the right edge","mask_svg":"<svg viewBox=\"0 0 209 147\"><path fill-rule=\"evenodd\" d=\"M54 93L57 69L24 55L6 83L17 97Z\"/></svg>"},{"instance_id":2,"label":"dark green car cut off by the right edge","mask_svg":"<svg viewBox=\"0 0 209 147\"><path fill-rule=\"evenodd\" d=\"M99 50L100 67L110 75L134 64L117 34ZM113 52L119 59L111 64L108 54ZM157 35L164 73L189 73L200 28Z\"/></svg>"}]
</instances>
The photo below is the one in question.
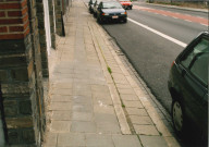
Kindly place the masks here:
<instances>
[{"instance_id":1,"label":"dark green car cut off by the right edge","mask_svg":"<svg viewBox=\"0 0 209 147\"><path fill-rule=\"evenodd\" d=\"M208 140L209 33L201 33L173 62L168 87L173 126L180 136L189 130ZM190 128L187 128L190 127Z\"/></svg>"}]
</instances>

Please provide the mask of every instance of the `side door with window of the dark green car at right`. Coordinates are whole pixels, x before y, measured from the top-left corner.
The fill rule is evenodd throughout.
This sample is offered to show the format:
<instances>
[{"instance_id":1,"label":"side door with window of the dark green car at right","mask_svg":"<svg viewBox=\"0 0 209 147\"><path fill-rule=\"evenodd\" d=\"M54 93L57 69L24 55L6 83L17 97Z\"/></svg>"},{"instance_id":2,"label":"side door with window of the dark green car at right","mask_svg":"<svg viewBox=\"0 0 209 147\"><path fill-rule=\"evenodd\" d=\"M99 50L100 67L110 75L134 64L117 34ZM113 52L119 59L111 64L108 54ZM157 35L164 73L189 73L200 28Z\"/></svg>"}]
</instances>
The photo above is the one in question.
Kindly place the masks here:
<instances>
[{"instance_id":1,"label":"side door with window of the dark green car at right","mask_svg":"<svg viewBox=\"0 0 209 147\"><path fill-rule=\"evenodd\" d=\"M185 113L199 131L208 125L208 58L209 38L200 36L180 58L181 94Z\"/></svg>"}]
</instances>

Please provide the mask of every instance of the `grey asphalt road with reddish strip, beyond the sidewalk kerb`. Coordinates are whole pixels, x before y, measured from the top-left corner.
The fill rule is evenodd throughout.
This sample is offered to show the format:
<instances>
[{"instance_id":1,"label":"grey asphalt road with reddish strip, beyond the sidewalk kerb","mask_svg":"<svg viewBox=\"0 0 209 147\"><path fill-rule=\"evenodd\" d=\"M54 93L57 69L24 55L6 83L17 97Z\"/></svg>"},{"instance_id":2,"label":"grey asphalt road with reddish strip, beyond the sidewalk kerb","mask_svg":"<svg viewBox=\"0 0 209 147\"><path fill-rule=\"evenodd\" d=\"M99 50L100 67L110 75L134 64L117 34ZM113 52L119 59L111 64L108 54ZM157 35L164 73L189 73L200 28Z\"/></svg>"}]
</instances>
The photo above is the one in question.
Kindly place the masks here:
<instances>
[{"instance_id":1,"label":"grey asphalt road with reddish strip, beyond the sidewalk kerb","mask_svg":"<svg viewBox=\"0 0 209 147\"><path fill-rule=\"evenodd\" d=\"M137 2L134 5L133 10L127 11L130 19L184 44L188 44L200 32L208 29L201 20L198 22L199 17L207 19L207 13ZM102 26L115 39L157 99L170 111L172 101L167 87L169 71L184 47L131 21L126 24L107 23Z\"/></svg>"}]
</instances>

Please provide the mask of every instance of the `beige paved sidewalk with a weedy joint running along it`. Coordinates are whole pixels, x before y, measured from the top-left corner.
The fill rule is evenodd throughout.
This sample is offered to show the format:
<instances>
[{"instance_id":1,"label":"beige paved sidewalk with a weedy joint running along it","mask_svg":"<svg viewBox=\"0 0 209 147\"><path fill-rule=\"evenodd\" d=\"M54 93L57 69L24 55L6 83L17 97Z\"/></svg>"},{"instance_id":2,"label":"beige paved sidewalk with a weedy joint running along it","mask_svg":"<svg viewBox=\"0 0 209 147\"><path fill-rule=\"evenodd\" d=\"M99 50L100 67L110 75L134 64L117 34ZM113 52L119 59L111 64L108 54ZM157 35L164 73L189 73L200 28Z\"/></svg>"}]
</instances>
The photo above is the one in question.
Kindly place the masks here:
<instances>
[{"instance_id":1,"label":"beige paved sidewalk with a weedy joint running along it","mask_svg":"<svg viewBox=\"0 0 209 147\"><path fill-rule=\"evenodd\" d=\"M44 147L179 147L157 101L81 0L50 57Z\"/></svg>"}]
</instances>

